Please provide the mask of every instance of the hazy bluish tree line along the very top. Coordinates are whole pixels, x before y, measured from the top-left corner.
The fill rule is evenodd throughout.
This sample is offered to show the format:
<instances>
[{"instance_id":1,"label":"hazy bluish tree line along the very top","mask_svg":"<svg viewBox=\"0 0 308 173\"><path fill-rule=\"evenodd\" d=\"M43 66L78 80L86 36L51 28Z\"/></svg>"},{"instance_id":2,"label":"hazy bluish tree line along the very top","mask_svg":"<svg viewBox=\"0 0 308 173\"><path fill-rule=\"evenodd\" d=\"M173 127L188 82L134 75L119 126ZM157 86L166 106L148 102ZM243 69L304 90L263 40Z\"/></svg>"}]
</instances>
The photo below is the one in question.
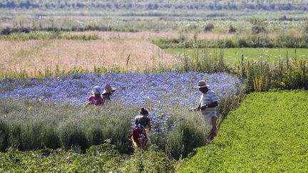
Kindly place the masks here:
<instances>
[{"instance_id":1,"label":"hazy bluish tree line along the very top","mask_svg":"<svg viewBox=\"0 0 308 173\"><path fill-rule=\"evenodd\" d=\"M223 2L223 3L222 3ZM280 3L268 1L5 1L0 0L1 9L104 9L104 10L308 10L308 2L293 0Z\"/></svg>"}]
</instances>

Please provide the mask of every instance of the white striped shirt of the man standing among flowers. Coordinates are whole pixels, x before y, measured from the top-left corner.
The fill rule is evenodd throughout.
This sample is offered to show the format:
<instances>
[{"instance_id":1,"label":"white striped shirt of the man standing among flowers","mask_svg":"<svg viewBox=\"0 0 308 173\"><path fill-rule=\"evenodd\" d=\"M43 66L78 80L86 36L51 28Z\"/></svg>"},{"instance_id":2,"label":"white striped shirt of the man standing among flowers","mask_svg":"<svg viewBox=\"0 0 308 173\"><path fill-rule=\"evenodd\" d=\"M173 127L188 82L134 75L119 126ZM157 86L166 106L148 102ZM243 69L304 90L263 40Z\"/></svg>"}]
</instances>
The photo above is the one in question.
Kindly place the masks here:
<instances>
[{"instance_id":1,"label":"white striped shirt of the man standing among flowers","mask_svg":"<svg viewBox=\"0 0 308 173\"><path fill-rule=\"evenodd\" d=\"M207 93L202 93L200 98L200 107L202 105L210 105L213 102L218 102L217 94L213 90L207 90ZM205 108L201 110L202 114L212 114L213 117L217 117L217 106L214 108Z\"/></svg>"}]
</instances>

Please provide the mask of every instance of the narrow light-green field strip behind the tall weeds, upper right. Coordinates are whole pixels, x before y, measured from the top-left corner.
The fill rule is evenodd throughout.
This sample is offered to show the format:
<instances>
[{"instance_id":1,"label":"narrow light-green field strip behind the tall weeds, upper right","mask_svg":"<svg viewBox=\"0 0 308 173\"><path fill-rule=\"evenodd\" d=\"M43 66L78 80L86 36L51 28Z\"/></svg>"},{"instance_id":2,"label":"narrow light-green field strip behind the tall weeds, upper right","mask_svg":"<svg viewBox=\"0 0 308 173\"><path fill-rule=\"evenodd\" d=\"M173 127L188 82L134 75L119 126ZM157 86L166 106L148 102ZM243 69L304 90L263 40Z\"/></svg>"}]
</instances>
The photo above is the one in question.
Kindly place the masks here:
<instances>
[{"instance_id":1,"label":"narrow light-green field strip behind the tall weeds, upper right","mask_svg":"<svg viewBox=\"0 0 308 173\"><path fill-rule=\"evenodd\" d=\"M245 60L270 60L275 62L289 58L308 58L308 48L168 48L166 52L174 56L202 56L220 57L222 55L227 63L237 64L242 54Z\"/></svg>"}]
</instances>

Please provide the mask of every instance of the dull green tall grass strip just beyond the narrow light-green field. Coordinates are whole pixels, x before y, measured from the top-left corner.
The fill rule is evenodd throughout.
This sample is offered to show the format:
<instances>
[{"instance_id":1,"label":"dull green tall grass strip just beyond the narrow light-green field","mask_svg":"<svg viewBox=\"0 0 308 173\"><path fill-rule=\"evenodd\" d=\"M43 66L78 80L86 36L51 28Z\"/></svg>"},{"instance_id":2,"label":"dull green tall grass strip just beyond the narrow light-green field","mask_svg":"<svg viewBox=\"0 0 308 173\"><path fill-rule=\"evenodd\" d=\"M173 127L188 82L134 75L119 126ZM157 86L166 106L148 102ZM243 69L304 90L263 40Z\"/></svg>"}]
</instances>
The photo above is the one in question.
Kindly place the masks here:
<instances>
[{"instance_id":1,"label":"dull green tall grass strip just beyond the narrow light-green field","mask_svg":"<svg viewBox=\"0 0 308 173\"><path fill-rule=\"evenodd\" d=\"M245 35L217 40L188 38L157 38L153 43L160 48L308 48L307 34Z\"/></svg>"}]
</instances>

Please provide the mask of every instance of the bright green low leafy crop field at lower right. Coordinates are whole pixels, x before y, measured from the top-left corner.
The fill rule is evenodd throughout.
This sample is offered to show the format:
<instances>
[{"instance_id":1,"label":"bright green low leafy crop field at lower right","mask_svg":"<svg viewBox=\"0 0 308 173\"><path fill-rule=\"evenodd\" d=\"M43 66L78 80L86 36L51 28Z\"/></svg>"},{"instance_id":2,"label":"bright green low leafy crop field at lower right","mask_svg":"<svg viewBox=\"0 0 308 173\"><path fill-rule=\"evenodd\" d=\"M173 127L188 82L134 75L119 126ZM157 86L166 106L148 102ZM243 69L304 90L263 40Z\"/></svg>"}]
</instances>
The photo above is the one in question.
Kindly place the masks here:
<instances>
[{"instance_id":1,"label":"bright green low leafy crop field at lower right","mask_svg":"<svg viewBox=\"0 0 308 173\"><path fill-rule=\"evenodd\" d=\"M308 93L254 93L180 172L307 172Z\"/></svg>"}]
</instances>

